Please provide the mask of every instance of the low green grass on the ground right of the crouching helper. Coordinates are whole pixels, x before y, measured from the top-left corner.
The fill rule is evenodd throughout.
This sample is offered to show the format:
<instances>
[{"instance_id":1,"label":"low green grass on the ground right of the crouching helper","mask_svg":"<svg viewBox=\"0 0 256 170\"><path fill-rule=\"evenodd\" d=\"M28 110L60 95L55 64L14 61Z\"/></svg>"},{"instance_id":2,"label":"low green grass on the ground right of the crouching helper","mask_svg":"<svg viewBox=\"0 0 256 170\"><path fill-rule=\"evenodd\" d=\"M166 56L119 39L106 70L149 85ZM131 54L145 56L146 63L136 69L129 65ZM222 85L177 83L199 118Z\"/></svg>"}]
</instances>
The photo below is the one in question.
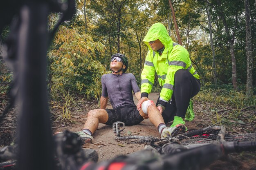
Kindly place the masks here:
<instances>
[{"instance_id":1,"label":"low green grass on the ground right of the crouching helper","mask_svg":"<svg viewBox=\"0 0 256 170\"><path fill-rule=\"evenodd\" d=\"M256 96L247 98L245 91L242 90L245 87L238 88L241 90L234 91L232 85L216 86L208 82L202 86L201 91L193 100L211 105L206 108L210 110L211 124L225 125L228 131L237 132L233 129L235 127L240 132L252 132L247 128L237 128L237 126L254 125L256 116L252 112L255 112L253 110L256 107ZM256 92L256 89L254 90Z\"/></svg>"}]
</instances>

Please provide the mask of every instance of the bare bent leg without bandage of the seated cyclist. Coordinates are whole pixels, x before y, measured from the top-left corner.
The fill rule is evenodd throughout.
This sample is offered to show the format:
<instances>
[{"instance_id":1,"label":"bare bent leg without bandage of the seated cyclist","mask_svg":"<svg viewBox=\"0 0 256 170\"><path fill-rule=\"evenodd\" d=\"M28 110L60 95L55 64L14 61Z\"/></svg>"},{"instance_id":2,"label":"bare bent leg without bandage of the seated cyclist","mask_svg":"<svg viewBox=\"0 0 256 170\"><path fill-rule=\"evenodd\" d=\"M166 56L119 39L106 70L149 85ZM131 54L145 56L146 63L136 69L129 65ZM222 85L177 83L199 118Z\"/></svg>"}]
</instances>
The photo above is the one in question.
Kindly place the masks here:
<instances>
[{"instance_id":1,"label":"bare bent leg without bandage of the seated cyclist","mask_svg":"<svg viewBox=\"0 0 256 170\"><path fill-rule=\"evenodd\" d=\"M88 112L87 120L83 129L89 129L92 134L97 130L99 123L106 123L108 121L108 113L104 109L94 109Z\"/></svg>"}]
</instances>

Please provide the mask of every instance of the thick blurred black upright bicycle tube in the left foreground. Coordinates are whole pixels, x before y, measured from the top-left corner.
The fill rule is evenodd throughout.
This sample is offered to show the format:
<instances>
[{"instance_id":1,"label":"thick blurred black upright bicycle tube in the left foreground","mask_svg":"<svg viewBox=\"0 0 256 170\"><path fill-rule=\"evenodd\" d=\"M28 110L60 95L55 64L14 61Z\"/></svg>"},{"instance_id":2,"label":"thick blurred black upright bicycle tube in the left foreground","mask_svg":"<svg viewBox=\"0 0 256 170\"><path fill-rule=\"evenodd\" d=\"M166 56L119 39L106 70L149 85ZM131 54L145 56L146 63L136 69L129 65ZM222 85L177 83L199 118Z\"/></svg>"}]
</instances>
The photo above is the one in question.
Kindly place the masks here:
<instances>
[{"instance_id":1,"label":"thick blurred black upright bicycle tube in the left foreground","mask_svg":"<svg viewBox=\"0 0 256 170\"><path fill-rule=\"evenodd\" d=\"M49 7L43 2L25 5L20 10L17 51L20 63L18 68L19 170L54 169L53 140L45 81L48 14Z\"/></svg>"}]
</instances>

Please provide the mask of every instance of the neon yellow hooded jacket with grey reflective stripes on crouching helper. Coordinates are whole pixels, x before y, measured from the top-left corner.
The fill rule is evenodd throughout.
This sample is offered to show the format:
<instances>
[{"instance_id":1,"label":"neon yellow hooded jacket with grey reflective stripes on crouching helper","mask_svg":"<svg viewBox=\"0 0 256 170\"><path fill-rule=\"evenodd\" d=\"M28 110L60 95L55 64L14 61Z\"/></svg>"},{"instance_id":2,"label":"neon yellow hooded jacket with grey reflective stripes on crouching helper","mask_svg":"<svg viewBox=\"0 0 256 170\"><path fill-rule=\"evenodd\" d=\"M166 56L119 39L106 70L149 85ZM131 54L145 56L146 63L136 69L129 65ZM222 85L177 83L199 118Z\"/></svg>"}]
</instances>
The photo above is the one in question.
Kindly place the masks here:
<instances>
[{"instance_id":1,"label":"neon yellow hooded jacket with grey reflective stripes on crouching helper","mask_svg":"<svg viewBox=\"0 0 256 170\"><path fill-rule=\"evenodd\" d=\"M153 51L148 42L159 39L165 49L162 56ZM189 52L181 45L173 42L164 25L153 24L146 34L143 42L148 46L149 51L141 73L141 93L150 93L155 72L157 72L159 85L162 86L160 99L168 102L171 99L174 88L174 74L179 69L187 69L193 76L199 79L189 58Z\"/></svg>"}]
</instances>

